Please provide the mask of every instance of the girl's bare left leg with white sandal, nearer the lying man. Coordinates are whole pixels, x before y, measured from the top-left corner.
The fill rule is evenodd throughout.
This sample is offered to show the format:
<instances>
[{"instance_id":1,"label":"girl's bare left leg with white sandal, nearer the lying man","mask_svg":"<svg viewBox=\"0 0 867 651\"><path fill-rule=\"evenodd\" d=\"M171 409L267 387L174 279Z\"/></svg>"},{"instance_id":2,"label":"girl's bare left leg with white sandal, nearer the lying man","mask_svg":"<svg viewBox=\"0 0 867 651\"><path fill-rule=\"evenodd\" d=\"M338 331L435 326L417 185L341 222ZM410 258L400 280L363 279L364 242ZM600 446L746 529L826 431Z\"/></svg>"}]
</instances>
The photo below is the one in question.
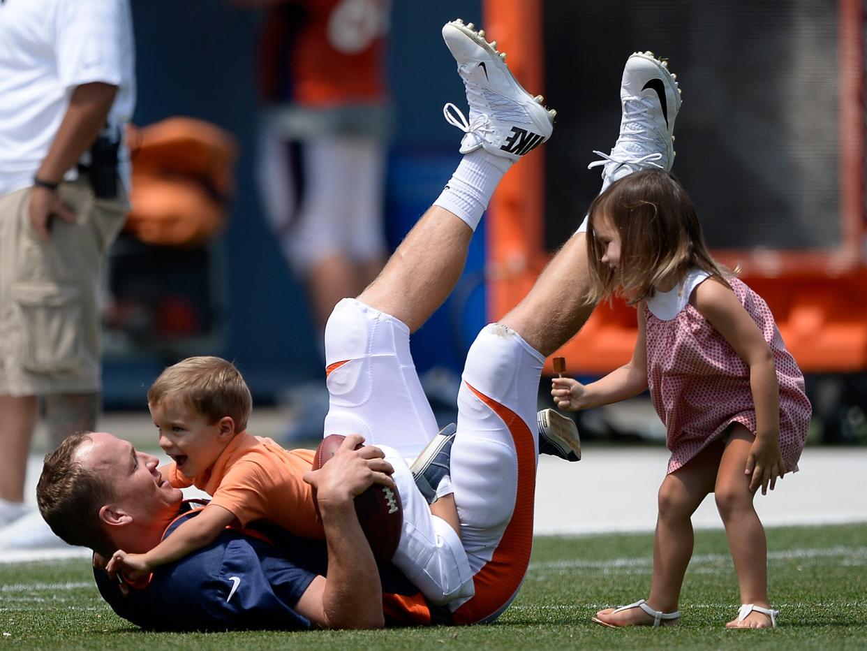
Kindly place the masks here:
<instances>
[{"instance_id":1,"label":"girl's bare left leg with white sandal, nearer the lying man","mask_svg":"<svg viewBox=\"0 0 867 651\"><path fill-rule=\"evenodd\" d=\"M647 599L654 610L663 613L677 610L683 575L693 555L690 518L705 496L714 490L721 454L721 445L711 445L662 481L653 545L653 579ZM629 608L615 615L611 615L612 610L600 610L596 617L616 626L653 624L653 617L641 608Z\"/></svg>"}]
</instances>

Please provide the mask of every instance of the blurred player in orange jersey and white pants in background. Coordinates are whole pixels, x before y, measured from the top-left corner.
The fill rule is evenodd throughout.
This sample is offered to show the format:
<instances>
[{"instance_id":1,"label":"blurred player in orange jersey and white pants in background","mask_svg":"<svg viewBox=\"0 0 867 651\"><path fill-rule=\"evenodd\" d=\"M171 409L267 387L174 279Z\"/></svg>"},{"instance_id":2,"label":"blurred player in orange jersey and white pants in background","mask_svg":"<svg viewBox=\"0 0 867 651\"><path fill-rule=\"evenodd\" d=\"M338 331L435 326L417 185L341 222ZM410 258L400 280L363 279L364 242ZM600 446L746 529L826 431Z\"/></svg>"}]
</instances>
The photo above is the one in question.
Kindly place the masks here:
<instances>
[{"instance_id":1,"label":"blurred player in orange jersey and white pants in background","mask_svg":"<svg viewBox=\"0 0 867 651\"><path fill-rule=\"evenodd\" d=\"M388 254L383 224L391 109L385 79L390 0L234 0L266 6L257 172L264 213L302 280L323 340L340 299ZM295 391L288 437L321 437L328 392Z\"/></svg>"}]
</instances>

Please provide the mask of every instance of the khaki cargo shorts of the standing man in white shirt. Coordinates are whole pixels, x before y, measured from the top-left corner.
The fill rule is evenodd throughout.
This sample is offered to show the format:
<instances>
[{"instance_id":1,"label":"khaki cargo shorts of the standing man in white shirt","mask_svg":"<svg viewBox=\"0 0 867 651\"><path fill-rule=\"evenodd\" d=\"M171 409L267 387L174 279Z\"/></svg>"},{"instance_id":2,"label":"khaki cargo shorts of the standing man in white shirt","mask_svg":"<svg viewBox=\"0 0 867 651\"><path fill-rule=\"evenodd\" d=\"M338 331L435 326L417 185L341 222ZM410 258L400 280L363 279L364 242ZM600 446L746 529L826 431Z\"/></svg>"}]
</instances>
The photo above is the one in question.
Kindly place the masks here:
<instances>
[{"instance_id":1,"label":"khaki cargo shorts of the standing man in white shirt","mask_svg":"<svg viewBox=\"0 0 867 651\"><path fill-rule=\"evenodd\" d=\"M101 387L102 269L129 205L95 199L86 179L59 193L78 222L53 220L48 241L30 226L29 187L0 196L0 395Z\"/></svg>"}]
</instances>

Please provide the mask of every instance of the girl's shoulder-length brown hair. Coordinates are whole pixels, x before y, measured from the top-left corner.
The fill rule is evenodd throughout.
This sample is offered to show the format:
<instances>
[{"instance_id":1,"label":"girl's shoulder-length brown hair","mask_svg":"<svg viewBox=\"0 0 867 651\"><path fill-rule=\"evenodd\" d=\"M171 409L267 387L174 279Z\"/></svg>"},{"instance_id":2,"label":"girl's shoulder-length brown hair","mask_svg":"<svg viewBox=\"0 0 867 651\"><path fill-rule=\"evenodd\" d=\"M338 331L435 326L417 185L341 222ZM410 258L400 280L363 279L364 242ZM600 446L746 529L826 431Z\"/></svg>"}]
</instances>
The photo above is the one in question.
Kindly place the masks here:
<instances>
[{"instance_id":1,"label":"girl's shoulder-length brown hair","mask_svg":"<svg viewBox=\"0 0 867 651\"><path fill-rule=\"evenodd\" d=\"M693 202L668 172L652 169L624 176L596 197L588 214L588 304L621 296L635 305L653 296L655 285L679 280L694 266L723 282L733 275L707 251ZM616 269L603 264L605 247L593 235L600 220L608 220L620 234Z\"/></svg>"}]
</instances>

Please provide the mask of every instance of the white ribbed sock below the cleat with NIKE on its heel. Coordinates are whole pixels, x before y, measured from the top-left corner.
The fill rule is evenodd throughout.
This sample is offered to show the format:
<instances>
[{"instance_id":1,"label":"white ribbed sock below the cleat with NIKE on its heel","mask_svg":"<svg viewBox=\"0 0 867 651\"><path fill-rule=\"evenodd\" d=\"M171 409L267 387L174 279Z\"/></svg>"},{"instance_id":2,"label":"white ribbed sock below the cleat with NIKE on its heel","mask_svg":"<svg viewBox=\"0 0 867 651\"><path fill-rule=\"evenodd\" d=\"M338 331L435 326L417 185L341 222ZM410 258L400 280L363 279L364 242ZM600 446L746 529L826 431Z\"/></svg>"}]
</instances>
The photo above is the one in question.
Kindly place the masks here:
<instances>
[{"instance_id":1,"label":"white ribbed sock below the cleat with NIKE on its heel","mask_svg":"<svg viewBox=\"0 0 867 651\"><path fill-rule=\"evenodd\" d=\"M456 214L474 232L499 180L511 167L507 158L476 149L463 157L433 205Z\"/></svg>"}]
</instances>

